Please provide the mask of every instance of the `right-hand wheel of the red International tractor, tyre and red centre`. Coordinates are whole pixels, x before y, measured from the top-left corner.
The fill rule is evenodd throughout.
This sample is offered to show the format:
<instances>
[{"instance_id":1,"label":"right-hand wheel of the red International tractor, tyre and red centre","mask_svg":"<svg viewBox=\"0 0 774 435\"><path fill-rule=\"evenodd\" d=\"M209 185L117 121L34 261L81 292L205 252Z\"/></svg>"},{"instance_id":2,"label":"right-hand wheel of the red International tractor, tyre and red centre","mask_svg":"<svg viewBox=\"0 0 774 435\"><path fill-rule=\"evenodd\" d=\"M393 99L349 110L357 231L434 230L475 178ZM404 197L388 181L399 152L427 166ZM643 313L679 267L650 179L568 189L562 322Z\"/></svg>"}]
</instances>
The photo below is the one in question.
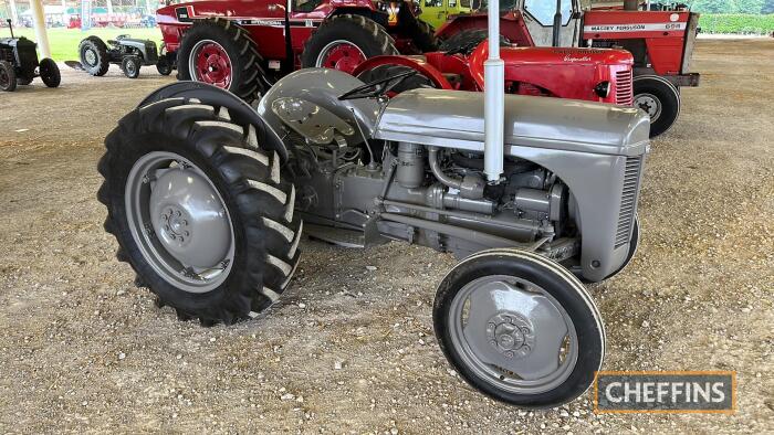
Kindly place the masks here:
<instances>
[{"instance_id":1,"label":"right-hand wheel of the red International tractor, tyre and red centre","mask_svg":"<svg viewBox=\"0 0 774 435\"><path fill-rule=\"evenodd\" d=\"M398 54L385 29L368 18L346 13L324 21L312 33L301 54L301 67L352 73L366 59L384 54Z\"/></svg>"}]
</instances>

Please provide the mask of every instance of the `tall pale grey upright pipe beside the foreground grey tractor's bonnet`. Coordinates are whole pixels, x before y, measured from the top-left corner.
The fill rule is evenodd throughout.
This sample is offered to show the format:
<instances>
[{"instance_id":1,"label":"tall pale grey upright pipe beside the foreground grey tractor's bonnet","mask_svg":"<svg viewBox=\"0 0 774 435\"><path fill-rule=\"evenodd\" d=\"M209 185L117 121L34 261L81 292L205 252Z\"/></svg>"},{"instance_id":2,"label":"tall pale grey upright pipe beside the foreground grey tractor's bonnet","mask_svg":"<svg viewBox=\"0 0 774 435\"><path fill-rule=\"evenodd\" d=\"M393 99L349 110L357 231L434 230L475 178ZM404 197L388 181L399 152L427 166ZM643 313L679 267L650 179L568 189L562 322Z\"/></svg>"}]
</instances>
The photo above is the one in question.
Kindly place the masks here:
<instances>
[{"instance_id":1,"label":"tall pale grey upright pipe beside the foreground grey tractor's bonnet","mask_svg":"<svg viewBox=\"0 0 774 435\"><path fill-rule=\"evenodd\" d=\"M503 173L505 123L505 63L500 59L500 0L488 11L489 59L484 61L484 174L490 183Z\"/></svg>"}]
</instances>

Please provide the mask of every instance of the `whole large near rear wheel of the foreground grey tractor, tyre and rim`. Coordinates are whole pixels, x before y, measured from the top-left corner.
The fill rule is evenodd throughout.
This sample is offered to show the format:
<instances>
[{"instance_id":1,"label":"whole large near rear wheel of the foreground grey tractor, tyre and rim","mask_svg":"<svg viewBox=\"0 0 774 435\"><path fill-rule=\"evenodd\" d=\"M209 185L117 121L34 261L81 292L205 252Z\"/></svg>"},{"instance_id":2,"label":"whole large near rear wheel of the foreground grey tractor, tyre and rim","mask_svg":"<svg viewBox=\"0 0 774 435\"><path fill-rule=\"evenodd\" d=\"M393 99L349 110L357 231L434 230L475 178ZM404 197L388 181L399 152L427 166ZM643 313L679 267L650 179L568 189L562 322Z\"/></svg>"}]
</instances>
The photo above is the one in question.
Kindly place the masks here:
<instances>
[{"instance_id":1,"label":"whole large near rear wheel of the foreground grey tractor, tyre and rim","mask_svg":"<svg viewBox=\"0 0 774 435\"><path fill-rule=\"evenodd\" d=\"M299 263L295 189L258 128L226 108L168 98L135 109L105 139L97 199L116 256L181 319L255 317Z\"/></svg>"}]
</instances>

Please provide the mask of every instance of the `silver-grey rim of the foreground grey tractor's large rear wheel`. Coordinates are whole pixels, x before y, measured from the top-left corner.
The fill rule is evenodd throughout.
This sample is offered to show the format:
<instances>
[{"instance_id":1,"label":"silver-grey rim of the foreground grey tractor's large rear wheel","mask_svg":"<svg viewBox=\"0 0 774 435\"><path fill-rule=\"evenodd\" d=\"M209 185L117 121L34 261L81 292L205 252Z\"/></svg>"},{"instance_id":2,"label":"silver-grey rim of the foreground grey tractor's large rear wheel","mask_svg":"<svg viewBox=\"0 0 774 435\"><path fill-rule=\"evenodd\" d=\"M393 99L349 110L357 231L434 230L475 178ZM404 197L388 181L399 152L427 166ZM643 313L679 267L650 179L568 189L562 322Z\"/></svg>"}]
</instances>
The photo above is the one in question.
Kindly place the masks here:
<instances>
[{"instance_id":1,"label":"silver-grey rim of the foreground grey tractor's large rear wheel","mask_svg":"<svg viewBox=\"0 0 774 435\"><path fill-rule=\"evenodd\" d=\"M231 217L218 189L190 160L166 151L143 156L127 177L125 206L137 247L164 280L202 294L229 276Z\"/></svg>"}]
</instances>

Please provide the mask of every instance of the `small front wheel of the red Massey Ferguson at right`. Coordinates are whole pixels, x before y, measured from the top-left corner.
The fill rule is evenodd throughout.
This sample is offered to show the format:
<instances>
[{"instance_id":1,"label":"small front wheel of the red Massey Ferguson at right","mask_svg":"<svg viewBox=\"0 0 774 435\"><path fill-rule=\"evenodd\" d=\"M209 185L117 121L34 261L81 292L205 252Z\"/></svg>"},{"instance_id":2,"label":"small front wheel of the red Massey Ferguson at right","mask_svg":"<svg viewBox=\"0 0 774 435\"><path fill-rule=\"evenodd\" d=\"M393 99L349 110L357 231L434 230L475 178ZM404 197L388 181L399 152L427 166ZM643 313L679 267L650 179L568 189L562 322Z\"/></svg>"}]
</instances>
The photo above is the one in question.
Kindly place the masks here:
<instances>
[{"instance_id":1,"label":"small front wheel of the red Massey Ferguson at right","mask_svg":"<svg viewBox=\"0 0 774 435\"><path fill-rule=\"evenodd\" d=\"M680 115L680 93L668 79L658 75L634 78L635 107L650 115L650 137L667 132Z\"/></svg>"}]
</instances>

